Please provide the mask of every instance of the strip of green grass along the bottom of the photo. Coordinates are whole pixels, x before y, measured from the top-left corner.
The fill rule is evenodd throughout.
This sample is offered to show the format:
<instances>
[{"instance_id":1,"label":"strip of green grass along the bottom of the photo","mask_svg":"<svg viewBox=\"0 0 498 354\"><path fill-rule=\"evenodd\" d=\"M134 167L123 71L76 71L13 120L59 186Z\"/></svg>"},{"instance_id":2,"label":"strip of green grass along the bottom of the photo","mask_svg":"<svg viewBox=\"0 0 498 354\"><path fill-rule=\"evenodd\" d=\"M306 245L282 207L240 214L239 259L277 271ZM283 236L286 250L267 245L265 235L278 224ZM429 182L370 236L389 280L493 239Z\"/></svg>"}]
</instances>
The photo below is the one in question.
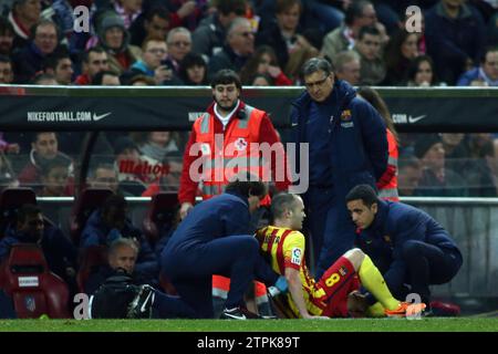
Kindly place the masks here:
<instances>
[{"instance_id":1,"label":"strip of green grass along the bottom of the photo","mask_svg":"<svg viewBox=\"0 0 498 354\"><path fill-rule=\"evenodd\" d=\"M498 317L334 320L1 320L2 332L498 332Z\"/></svg>"}]
</instances>

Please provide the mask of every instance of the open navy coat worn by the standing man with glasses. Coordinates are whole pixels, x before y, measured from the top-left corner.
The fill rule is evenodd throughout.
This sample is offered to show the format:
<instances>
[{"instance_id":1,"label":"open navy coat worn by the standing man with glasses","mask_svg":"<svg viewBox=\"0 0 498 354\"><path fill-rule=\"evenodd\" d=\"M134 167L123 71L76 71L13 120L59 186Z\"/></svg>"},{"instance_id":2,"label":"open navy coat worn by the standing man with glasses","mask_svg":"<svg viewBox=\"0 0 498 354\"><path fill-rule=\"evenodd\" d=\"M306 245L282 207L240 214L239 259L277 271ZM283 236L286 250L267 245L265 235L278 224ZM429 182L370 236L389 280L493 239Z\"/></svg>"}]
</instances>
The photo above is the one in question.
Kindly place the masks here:
<instances>
[{"instance_id":1,"label":"open navy coat worn by the standing man with glasses","mask_svg":"<svg viewBox=\"0 0 498 354\"><path fill-rule=\"evenodd\" d=\"M293 140L307 140L307 121L312 100L308 92L293 103L291 122ZM332 181L335 191L345 196L354 186L375 181L387 168L387 137L384 121L355 90L344 81L335 81L333 91L323 103L329 122L329 148ZM297 166L300 158L297 148ZM311 157L311 156L310 156ZM313 166L310 166L313 168Z\"/></svg>"}]
</instances>

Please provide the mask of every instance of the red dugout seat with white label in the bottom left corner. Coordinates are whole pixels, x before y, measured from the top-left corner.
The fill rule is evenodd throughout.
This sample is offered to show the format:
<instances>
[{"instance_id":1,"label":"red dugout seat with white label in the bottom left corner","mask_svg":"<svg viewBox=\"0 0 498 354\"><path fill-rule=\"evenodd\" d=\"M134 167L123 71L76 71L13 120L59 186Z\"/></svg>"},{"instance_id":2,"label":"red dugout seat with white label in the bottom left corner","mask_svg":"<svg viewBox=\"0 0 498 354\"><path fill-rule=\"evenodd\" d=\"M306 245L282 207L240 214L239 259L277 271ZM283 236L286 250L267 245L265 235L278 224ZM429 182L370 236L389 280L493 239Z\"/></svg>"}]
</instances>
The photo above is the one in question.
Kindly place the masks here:
<instances>
[{"instance_id":1,"label":"red dugout seat with white label in the bottom left corner","mask_svg":"<svg viewBox=\"0 0 498 354\"><path fill-rule=\"evenodd\" d=\"M0 266L2 288L12 299L19 319L69 319L66 283L49 270L40 247L14 244Z\"/></svg>"}]
</instances>

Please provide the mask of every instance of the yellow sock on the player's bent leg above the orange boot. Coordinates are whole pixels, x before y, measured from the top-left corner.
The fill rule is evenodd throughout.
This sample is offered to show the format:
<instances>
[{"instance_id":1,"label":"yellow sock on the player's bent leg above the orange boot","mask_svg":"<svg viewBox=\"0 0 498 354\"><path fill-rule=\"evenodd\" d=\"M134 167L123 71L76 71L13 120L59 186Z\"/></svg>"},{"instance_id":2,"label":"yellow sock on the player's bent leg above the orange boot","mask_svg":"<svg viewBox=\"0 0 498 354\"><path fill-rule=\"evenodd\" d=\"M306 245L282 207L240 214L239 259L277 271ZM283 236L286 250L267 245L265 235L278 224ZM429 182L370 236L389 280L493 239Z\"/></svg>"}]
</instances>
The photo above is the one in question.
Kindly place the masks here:
<instances>
[{"instance_id":1,"label":"yellow sock on the player's bent leg above the orange boot","mask_svg":"<svg viewBox=\"0 0 498 354\"><path fill-rule=\"evenodd\" d=\"M394 299L388 290L384 278L378 269L372 262L369 256L365 254L362 264L360 266L360 280L363 287L369 290L375 299L377 299L384 309L395 310L400 305L400 301Z\"/></svg>"}]
</instances>

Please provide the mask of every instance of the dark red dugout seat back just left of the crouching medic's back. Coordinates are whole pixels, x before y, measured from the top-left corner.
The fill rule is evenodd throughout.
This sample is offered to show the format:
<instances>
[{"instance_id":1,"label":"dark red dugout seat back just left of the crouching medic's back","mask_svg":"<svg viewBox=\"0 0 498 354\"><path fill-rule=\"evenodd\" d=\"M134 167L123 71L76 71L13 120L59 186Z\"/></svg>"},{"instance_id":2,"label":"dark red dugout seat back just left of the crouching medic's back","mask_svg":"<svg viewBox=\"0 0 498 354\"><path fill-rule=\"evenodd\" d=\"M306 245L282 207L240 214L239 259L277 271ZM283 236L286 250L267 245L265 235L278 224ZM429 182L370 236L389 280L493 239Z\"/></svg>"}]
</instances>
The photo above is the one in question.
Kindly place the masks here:
<instances>
[{"instance_id":1,"label":"dark red dugout seat back just left of the crouching medic's back","mask_svg":"<svg viewBox=\"0 0 498 354\"><path fill-rule=\"evenodd\" d=\"M148 205L143 221L144 235L151 246L155 246L163 230L175 226L175 217L179 210L178 196L172 192L158 192Z\"/></svg>"}]
</instances>

